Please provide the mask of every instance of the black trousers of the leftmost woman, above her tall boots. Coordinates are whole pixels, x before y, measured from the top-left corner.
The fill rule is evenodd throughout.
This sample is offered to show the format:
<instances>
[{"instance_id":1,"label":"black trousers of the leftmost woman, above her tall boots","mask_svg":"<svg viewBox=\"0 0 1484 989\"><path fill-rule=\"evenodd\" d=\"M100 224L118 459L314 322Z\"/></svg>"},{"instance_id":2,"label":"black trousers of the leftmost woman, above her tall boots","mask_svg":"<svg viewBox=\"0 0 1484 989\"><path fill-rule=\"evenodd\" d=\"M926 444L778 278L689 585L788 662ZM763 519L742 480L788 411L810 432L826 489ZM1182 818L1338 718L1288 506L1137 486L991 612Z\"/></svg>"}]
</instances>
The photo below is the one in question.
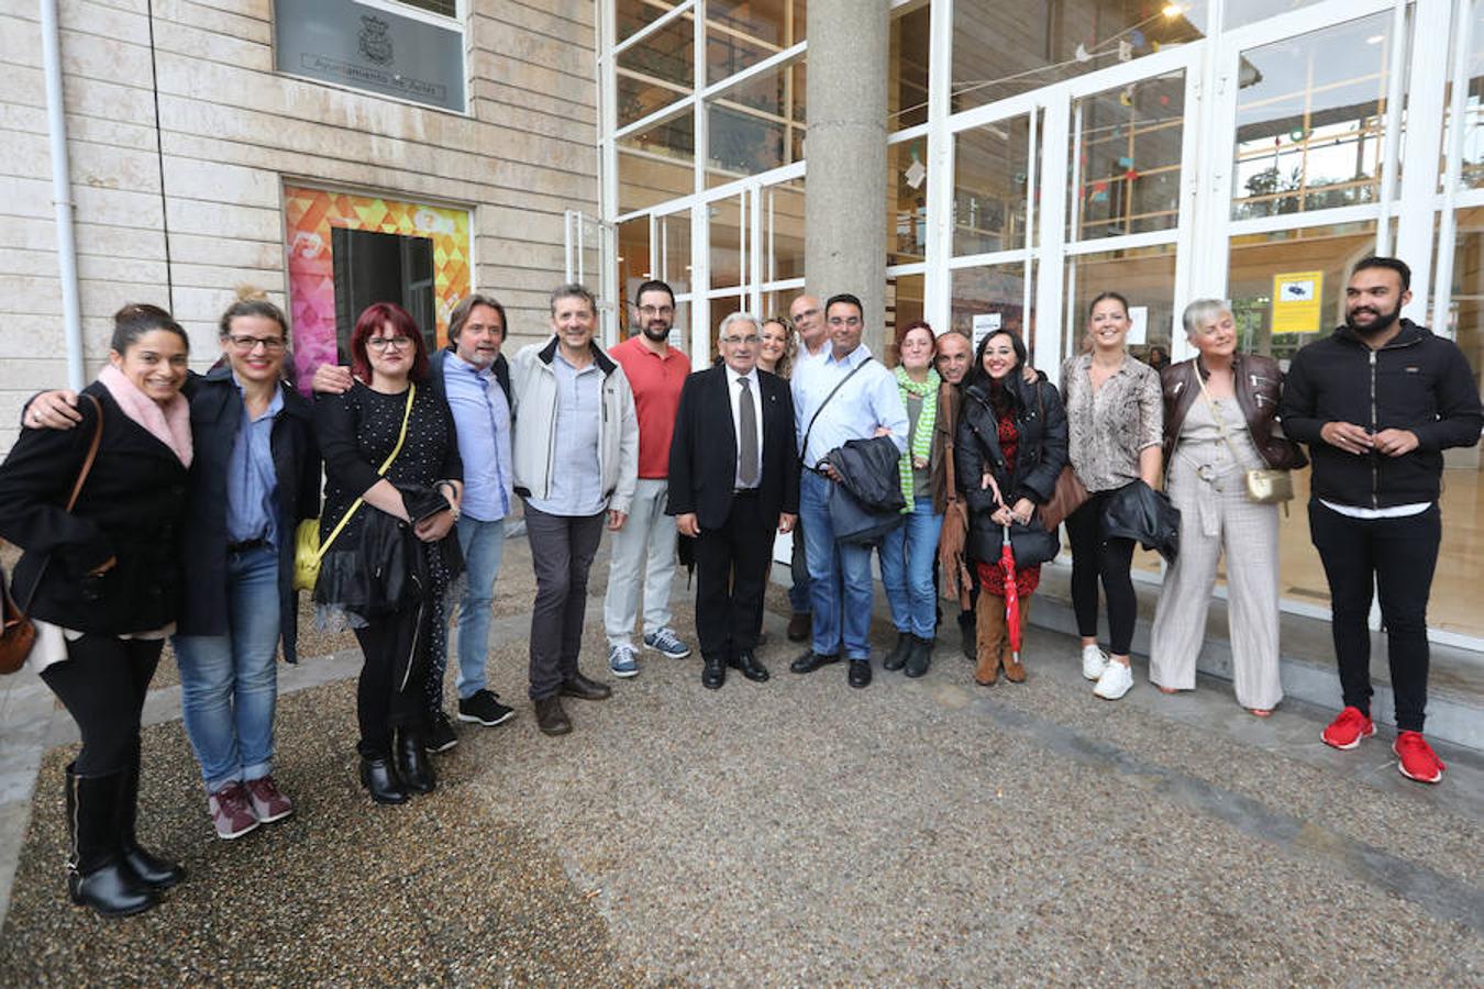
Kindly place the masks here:
<instances>
[{"instance_id":1,"label":"black trousers of the leftmost woman, above her tall boots","mask_svg":"<svg viewBox=\"0 0 1484 989\"><path fill-rule=\"evenodd\" d=\"M42 670L83 737L77 775L111 775L132 765L139 713L163 648L165 639L85 635L67 644L67 660Z\"/></svg>"}]
</instances>

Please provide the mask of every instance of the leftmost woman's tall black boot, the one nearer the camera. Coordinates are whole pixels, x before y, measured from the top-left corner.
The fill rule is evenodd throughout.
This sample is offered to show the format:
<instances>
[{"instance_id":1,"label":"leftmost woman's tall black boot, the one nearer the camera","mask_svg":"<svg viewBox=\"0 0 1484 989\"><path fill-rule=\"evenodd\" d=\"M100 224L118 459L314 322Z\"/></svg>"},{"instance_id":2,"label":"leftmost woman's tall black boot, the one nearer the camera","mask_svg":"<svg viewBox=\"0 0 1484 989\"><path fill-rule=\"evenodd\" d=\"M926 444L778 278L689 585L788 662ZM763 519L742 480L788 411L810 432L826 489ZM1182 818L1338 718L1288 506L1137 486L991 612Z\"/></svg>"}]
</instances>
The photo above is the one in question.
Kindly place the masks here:
<instances>
[{"instance_id":1,"label":"leftmost woman's tall black boot, the one nearer the camera","mask_svg":"<svg viewBox=\"0 0 1484 989\"><path fill-rule=\"evenodd\" d=\"M123 773L83 777L67 768L67 893L104 916L131 916L159 903L119 853L119 790Z\"/></svg>"}]
</instances>

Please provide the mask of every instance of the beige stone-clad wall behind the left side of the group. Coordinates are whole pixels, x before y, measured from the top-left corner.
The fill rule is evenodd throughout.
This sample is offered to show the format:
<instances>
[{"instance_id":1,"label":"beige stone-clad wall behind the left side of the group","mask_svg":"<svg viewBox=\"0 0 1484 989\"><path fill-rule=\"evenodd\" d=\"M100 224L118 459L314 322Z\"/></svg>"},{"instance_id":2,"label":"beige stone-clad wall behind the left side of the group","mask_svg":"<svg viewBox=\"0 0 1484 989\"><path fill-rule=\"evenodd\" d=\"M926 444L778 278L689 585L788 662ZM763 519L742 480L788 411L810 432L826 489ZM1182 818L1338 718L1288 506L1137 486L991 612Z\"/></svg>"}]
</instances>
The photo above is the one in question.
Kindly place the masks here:
<instances>
[{"instance_id":1,"label":"beige stone-clad wall behind the left side of the group","mask_svg":"<svg viewBox=\"0 0 1484 989\"><path fill-rule=\"evenodd\" d=\"M469 0L464 114L275 71L270 0L59 7L89 377L123 302L171 307L197 368L236 285L286 305L288 184L469 209L473 285L512 345L545 332L564 211L597 212L591 0ZM0 0L0 67L3 451L25 396L67 383L33 0Z\"/></svg>"}]
</instances>

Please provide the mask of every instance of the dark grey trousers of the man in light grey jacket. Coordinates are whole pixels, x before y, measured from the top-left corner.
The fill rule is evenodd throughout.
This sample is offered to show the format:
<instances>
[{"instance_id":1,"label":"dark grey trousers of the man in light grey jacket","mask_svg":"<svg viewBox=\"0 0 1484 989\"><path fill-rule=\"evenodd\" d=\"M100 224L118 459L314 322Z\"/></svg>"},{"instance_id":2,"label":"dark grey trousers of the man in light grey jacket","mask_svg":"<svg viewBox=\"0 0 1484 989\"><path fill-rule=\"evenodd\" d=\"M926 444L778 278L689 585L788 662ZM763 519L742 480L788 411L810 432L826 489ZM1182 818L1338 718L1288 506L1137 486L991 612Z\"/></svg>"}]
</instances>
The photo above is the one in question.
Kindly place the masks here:
<instances>
[{"instance_id":1,"label":"dark grey trousers of the man in light grey jacket","mask_svg":"<svg viewBox=\"0 0 1484 989\"><path fill-rule=\"evenodd\" d=\"M536 571L531 608L531 700L552 697L577 673L588 571L603 541L607 512L548 515L525 503L525 534Z\"/></svg>"}]
</instances>

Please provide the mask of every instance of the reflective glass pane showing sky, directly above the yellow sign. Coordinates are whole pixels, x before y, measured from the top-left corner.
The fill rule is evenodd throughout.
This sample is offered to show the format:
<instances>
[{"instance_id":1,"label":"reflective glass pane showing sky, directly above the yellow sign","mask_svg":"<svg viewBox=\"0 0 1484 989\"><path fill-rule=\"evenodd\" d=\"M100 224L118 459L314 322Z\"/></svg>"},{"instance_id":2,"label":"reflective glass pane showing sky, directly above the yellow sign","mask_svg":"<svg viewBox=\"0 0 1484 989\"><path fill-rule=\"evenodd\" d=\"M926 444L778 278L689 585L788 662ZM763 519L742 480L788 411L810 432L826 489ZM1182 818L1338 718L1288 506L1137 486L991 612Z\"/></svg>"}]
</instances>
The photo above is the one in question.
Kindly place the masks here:
<instances>
[{"instance_id":1,"label":"reflective glass pane showing sky, directly above the yellow sign","mask_svg":"<svg viewBox=\"0 0 1484 989\"><path fill-rule=\"evenodd\" d=\"M1232 218L1380 194L1391 13L1242 52Z\"/></svg>"}]
</instances>

